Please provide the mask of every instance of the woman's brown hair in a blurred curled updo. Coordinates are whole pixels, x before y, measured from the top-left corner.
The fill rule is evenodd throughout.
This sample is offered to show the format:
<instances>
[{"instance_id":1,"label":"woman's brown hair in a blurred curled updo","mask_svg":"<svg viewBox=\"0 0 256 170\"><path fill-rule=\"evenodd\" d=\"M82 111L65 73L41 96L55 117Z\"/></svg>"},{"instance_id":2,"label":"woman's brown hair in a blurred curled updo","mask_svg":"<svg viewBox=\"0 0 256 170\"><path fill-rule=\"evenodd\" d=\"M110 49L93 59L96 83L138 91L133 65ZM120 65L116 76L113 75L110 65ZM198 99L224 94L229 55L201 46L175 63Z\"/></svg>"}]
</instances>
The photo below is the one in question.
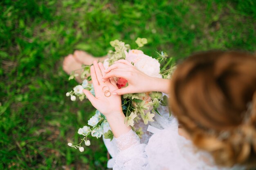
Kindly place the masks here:
<instances>
[{"instance_id":1,"label":"woman's brown hair in a blurred curled updo","mask_svg":"<svg viewBox=\"0 0 256 170\"><path fill-rule=\"evenodd\" d=\"M222 166L256 166L256 56L208 51L173 73L170 107L193 144Z\"/></svg>"}]
</instances>

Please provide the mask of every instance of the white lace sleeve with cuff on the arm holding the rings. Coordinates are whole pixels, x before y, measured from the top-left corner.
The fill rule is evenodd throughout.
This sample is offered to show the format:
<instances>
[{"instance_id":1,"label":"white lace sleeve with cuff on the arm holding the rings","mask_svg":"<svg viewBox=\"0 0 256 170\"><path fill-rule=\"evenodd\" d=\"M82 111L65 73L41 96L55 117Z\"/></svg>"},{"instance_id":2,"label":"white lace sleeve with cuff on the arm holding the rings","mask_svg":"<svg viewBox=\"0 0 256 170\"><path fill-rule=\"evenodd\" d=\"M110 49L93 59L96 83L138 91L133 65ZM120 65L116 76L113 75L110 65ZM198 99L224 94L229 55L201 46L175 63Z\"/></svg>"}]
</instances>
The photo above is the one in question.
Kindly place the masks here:
<instances>
[{"instance_id":1,"label":"white lace sleeve with cuff on the arm holding the rings","mask_svg":"<svg viewBox=\"0 0 256 170\"><path fill-rule=\"evenodd\" d=\"M115 158L113 170L145 170L148 166L146 144L140 144L138 135L130 130L115 138L120 152Z\"/></svg>"}]
</instances>

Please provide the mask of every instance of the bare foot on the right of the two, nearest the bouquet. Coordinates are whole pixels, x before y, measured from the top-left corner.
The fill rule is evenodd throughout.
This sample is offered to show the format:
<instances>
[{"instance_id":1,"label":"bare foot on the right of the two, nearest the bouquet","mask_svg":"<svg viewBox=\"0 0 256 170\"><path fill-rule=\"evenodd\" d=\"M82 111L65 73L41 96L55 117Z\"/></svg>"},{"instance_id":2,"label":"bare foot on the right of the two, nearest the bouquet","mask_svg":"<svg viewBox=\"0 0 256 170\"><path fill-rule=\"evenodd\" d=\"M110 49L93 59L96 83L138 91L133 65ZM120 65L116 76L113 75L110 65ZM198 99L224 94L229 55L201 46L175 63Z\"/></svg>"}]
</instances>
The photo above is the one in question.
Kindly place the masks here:
<instances>
[{"instance_id":1,"label":"bare foot on the right of the two, nearest the bouquet","mask_svg":"<svg viewBox=\"0 0 256 170\"><path fill-rule=\"evenodd\" d=\"M103 62L108 56L103 57L94 57L93 55L86 53L85 51L76 50L74 52L74 58L77 62L80 62L84 65L92 65L93 61L97 60L99 62Z\"/></svg>"}]
</instances>

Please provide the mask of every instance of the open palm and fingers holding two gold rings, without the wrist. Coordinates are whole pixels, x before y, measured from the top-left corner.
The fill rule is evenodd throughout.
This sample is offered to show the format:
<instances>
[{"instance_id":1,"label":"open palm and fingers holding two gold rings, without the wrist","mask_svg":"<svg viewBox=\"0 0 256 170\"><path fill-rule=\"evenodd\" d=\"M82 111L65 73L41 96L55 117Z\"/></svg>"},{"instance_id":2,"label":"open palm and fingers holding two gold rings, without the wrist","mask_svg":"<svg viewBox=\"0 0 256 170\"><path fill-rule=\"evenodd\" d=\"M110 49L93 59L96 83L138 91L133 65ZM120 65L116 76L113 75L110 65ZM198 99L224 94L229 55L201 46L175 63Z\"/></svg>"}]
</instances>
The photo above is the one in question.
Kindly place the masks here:
<instances>
[{"instance_id":1,"label":"open palm and fingers holding two gold rings, without the wrist","mask_svg":"<svg viewBox=\"0 0 256 170\"><path fill-rule=\"evenodd\" d=\"M102 63L93 62L93 66L90 68L92 84L95 91L95 97L87 90L83 90L86 97L92 103L92 106L97 108L106 117L115 113L122 113L121 96L112 95L111 92L117 90L116 82L113 78L104 79L102 76L104 73L104 66Z\"/></svg>"}]
</instances>

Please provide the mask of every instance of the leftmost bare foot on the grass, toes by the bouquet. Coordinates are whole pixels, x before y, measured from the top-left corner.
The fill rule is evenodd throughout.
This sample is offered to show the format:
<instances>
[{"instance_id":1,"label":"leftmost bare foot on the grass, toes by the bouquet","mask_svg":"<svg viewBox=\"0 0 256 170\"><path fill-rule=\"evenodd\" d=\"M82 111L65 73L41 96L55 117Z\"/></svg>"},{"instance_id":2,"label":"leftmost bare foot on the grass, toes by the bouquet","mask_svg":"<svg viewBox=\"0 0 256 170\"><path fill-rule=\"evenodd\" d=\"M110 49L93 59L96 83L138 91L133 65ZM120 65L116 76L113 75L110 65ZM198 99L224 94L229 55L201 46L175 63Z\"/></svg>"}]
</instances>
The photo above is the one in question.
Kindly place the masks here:
<instances>
[{"instance_id":1,"label":"leftmost bare foot on the grass, toes by the bouquet","mask_svg":"<svg viewBox=\"0 0 256 170\"><path fill-rule=\"evenodd\" d=\"M78 76L76 76L76 81L79 83L83 82L83 80L80 77L82 72L81 68L82 64L80 62L77 62L72 54L64 58L63 70L69 75L72 73L72 71L75 71L75 73L79 74Z\"/></svg>"}]
</instances>

